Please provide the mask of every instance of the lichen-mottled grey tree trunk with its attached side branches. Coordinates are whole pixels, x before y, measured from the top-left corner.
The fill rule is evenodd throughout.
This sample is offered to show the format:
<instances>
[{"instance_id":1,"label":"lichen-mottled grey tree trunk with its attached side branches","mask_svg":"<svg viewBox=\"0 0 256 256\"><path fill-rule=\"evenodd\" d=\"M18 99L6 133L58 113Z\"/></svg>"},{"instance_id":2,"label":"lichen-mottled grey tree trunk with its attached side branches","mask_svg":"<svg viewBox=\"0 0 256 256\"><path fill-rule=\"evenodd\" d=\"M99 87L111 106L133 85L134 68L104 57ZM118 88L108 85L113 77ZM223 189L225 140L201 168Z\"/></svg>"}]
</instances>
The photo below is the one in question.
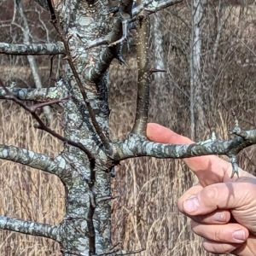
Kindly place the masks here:
<instances>
[{"instance_id":1,"label":"lichen-mottled grey tree trunk with its attached side branches","mask_svg":"<svg viewBox=\"0 0 256 256\"><path fill-rule=\"evenodd\" d=\"M49 102L66 98L59 104L64 110L64 150L54 158L23 148L0 145L0 158L32 166L55 174L66 188L66 214L58 226L38 224L0 217L0 228L35 236L55 239L65 256L119 255L134 252L111 247L111 195L110 177L113 166L137 156L158 158L184 158L206 154L226 154L237 171L236 154L242 148L256 143L256 130L241 131L236 122L231 133L238 137L227 142L212 139L191 145L152 143L145 137L148 118L148 18L144 7L152 1L137 3L136 17L131 16L131 0L121 0L111 13L103 1L36 0L49 9L54 26L63 44L2 45L2 53L34 55L63 54L67 60L65 75L50 88L8 90L22 101ZM160 8L179 1L160 1ZM52 6L50 7L49 5ZM49 8L50 7L50 8ZM157 6L150 6L158 10ZM112 143L108 134L108 67L120 55L120 39L125 43L125 24L137 20L138 101L137 117L131 134L125 141ZM108 38L109 45L103 45ZM103 42L106 43L106 40ZM54 45L58 45L55 46ZM65 49L64 49L65 47ZM11 48L11 49L10 49ZM154 68L154 67L153 67ZM71 96L71 97L67 97ZM0 98L9 98L7 90L0 90ZM16 101L17 102L17 101ZM40 124L40 122L38 122ZM36 125L38 127L38 125ZM42 128L42 126L41 126ZM44 129L47 131L47 129ZM73 142L73 143L70 143ZM87 154L80 143L95 157L91 168ZM92 170L93 169L93 170ZM93 178L92 178L93 177Z\"/></svg>"}]
</instances>

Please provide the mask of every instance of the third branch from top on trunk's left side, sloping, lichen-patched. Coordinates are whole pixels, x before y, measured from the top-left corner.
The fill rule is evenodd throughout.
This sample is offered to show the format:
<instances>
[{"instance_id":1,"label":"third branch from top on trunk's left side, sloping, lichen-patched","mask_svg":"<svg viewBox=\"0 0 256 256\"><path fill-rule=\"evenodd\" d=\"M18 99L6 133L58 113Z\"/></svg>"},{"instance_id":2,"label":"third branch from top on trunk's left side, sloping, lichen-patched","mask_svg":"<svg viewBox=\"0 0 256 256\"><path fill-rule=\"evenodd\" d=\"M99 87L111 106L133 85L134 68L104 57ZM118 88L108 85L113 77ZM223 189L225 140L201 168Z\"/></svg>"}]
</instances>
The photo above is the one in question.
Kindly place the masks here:
<instances>
[{"instance_id":1,"label":"third branch from top on trunk's left side, sloping, lichen-patched","mask_svg":"<svg viewBox=\"0 0 256 256\"><path fill-rule=\"evenodd\" d=\"M0 159L11 160L56 175L56 170L60 169L61 165L61 160L57 158L5 144L0 144Z\"/></svg>"}]
</instances>

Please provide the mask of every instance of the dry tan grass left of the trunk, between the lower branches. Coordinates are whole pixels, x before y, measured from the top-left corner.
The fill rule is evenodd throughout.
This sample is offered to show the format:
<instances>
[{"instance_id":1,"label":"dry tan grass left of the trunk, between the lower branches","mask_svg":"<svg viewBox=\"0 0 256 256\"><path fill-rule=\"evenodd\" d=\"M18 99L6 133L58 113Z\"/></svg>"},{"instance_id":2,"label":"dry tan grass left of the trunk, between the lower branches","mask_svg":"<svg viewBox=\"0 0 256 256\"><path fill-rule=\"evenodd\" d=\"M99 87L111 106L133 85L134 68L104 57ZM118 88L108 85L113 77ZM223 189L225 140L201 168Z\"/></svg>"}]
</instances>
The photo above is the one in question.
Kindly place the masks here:
<instances>
[{"instance_id":1,"label":"dry tan grass left of the trunk, between the lower branches","mask_svg":"<svg viewBox=\"0 0 256 256\"><path fill-rule=\"evenodd\" d=\"M0 102L1 143L55 155L61 143L32 127L32 118L14 104ZM61 131L56 119L52 128ZM0 161L0 214L41 223L59 224L64 215L64 189L55 175ZM2 230L0 255L61 255L56 242Z\"/></svg>"}]
</instances>

